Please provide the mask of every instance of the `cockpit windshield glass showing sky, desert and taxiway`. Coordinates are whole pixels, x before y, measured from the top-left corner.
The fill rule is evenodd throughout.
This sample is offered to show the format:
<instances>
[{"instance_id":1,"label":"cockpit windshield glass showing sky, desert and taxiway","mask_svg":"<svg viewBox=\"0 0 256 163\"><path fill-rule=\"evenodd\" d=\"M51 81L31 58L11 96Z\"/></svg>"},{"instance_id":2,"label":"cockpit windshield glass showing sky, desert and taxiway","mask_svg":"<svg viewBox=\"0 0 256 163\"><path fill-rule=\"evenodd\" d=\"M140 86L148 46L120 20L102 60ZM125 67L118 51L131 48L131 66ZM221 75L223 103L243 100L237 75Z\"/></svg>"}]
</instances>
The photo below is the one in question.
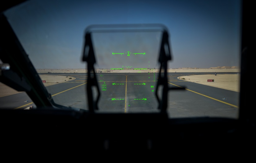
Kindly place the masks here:
<instances>
[{"instance_id":1,"label":"cockpit windshield glass showing sky, desert and taxiway","mask_svg":"<svg viewBox=\"0 0 256 163\"><path fill-rule=\"evenodd\" d=\"M4 15L58 105L238 119L240 5L31 0ZM0 84L0 107L37 108Z\"/></svg>"}]
</instances>

